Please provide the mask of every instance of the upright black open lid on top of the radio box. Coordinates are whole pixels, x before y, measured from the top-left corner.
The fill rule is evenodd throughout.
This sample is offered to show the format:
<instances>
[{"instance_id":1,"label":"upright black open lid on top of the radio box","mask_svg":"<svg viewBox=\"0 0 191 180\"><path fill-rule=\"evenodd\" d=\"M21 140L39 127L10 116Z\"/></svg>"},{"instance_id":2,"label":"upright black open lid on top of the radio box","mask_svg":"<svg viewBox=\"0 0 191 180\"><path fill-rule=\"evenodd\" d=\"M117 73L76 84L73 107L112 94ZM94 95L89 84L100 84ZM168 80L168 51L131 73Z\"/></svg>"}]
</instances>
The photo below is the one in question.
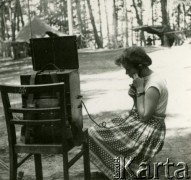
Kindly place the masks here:
<instances>
[{"instance_id":1,"label":"upright black open lid on top of the radio box","mask_svg":"<svg viewBox=\"0 0 191 180\"><path fill-rule=\"evenodd\" d=\"M76 36L30 39L33 70L41 70L47 64L60 69L78 69ZM50 69L53 67L50 66Z\"/></svg>"}]
</instances>

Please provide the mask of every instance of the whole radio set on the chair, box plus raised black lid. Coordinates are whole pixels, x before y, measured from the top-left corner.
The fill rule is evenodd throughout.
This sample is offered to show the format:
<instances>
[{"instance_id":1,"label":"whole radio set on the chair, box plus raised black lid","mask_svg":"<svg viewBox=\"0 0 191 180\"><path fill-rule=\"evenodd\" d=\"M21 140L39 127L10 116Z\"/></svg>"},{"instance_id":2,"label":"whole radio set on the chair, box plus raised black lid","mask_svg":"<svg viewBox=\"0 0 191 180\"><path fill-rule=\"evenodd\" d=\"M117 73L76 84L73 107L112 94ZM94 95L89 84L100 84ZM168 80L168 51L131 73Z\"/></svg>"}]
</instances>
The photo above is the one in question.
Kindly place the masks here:
<instances>
[{"instance_id":1,"label":"whole radio set on the chair, box plus raised black lid","mask_svg":"<svg viewBox=\"0 0 191 180\"><path fill-rule=\"evenodd\" d=\"M52 83L51 74L56 73L57 81L65 83L66 96L66 122L72 129L75 144L80 144L82 136L80 133L83 128L82 105L80 96L79 63L75 36L39 38L30 40L32 50L32 64L37 73L35 84ZM55 67L58 69L55 70ZM33 73L34 74L34 73ZM22 85L29 85L32 74L20 76ZM23 104L26 99L23 97Z\"/></svg>"}]
</instances>

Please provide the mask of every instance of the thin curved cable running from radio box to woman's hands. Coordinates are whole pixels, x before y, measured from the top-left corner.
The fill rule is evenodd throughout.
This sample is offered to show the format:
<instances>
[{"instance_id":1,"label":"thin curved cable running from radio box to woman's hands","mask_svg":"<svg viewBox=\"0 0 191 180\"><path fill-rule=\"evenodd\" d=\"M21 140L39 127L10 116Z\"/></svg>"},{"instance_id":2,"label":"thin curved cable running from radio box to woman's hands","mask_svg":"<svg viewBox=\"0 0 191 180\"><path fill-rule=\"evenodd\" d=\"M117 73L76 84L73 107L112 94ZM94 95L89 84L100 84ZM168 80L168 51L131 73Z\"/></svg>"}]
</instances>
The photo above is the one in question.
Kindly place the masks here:
<instances>
[{"instance_id":1,"label":"thin curved cable running from radio box to woman's hands","mask_svg":"<svg viewBox=\"0 0 191 180\"><path fill-rule=\"evenodd\" d=\"M91 117L91 115L89 114L88 109L87 109L85 103L83 102L83 100L81 100L81 102L82 102L82 105L84 106L84 108L85 108L85 110L86 110L86 112L87 112L88 117L90 118L90 120L92 120L92 122L93 122L94 124L96 124L98 127L100 127L100 128L106 128L106 129L112 129L112 128L115 128L115 127L117 127L117 126L122 125L122 124L132 115L132 111L133 111L133 109L134 109L134 107L135 107L135 105L133 104L129 115L128 115L125 119L123 119L123 121L122 121L121 123L119 123L118 125L113 126L113 127L106 127L107 123L104 121L104 122L98 124L98 123ZM114 118L114 119L122 119L122 118Z\"/></svg>"}]
</instances>

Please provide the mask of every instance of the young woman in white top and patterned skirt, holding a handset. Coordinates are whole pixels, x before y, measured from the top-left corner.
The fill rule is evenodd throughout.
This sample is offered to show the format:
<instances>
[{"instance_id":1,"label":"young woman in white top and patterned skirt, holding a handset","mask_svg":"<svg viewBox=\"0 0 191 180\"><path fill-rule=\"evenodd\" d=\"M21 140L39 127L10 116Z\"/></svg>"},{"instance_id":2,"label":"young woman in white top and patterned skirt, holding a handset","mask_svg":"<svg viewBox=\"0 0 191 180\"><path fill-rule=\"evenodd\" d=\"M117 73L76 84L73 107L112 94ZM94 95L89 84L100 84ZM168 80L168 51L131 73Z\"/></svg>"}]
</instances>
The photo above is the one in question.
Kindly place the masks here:
<instances>
[{"instance_id":1,"label":"young woman in white top and patterned skirt, holding a handset","mask_svg":"<svg viewBox=\"0 0 191 180\"><path fill-rule=\"evenodd\" d=\"M149 162L161 151L165 140L165 112L168 102L166 81L149 68L151 58L141 47L129 47L116 60L132 78L129 95L134 109L125 118L114 118L106 127L89 128L90 160L109 179L115 178L116 159L132 164L136 175L141 162ZM131 176L129 167L126 176ZM123 169L122 169L123 168ZM121 175L120 175L121 176ZM128 179L128 177L127 177Z\"/></svg>"}]
</instances>

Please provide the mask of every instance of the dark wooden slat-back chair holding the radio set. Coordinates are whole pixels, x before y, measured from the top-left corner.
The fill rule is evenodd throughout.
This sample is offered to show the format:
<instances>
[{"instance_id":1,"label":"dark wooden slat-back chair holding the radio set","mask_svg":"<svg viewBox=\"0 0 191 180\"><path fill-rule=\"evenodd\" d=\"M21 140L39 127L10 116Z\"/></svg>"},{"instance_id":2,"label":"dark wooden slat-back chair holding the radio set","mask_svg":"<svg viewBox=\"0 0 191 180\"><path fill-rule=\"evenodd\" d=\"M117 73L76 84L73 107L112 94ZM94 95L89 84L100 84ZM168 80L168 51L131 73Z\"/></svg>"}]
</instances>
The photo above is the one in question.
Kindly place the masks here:
<instances>
[{"instance_id":1,"label":"dark wooden slat-back chair holding the radio set","mask_svg":"<svg viewBox=\"0 0 191 180\"><path fill-rule=\"evenodd\" d=\"M34 155L35 173L36 179L42 180L42 162L41 154L62 154L63 155L63 171L64 180L69 179L69 168L81 157L84 157L84 177L86 180L90 180L90 161L89 161L89 149L88 149L88 133L84 131L84 141L82 142L82 150L77 153L70 161L68 160L68 152L74 147L69 147L66 134L66 104L65 104L65 86L64 83L44 84L44 85L23 85L23 86L9 86L0 85L1 97L4 106L4 113L8 132L9 141L9 158L10 158L10 180L17 179L17 169L23 164L31 155ZM19 107L15 107L12 104L10 94L19 94L18 97L23 102L23 95L36 94L46 92L59 92L59 106L50 108L24 108L22 103ZM57 112L59 114L58 119L43 119L26 120L23 117L24 113L49 113ZM18 117L19 118L15 118ZM21 116L21 117L20 117ZM26 144L17 140L16 129L17 126L34 125L55 125L59 124L62 128L62 140L58 144ZM20 130L20 129L19 129ZM18 162L18 153L27 154L20 162Z\"/></svg>"}]
</instances>

